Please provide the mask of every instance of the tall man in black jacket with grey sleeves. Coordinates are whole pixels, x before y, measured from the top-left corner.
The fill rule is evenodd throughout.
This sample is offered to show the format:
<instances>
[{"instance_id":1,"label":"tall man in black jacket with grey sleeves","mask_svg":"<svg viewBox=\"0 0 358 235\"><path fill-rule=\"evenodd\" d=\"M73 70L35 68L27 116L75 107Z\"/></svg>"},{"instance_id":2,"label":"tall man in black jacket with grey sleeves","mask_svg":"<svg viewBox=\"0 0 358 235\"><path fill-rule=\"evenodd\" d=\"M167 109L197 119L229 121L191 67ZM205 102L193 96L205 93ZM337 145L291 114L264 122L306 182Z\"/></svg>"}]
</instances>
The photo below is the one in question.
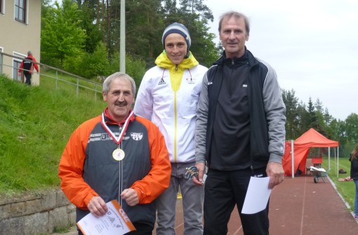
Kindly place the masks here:
<instances>
[{"instance_id":1,"label":"tall man in black jacket with grey sleeves","mask_svg":"<svg viewBox=\"0 0 358 235\"><path fill-rule=\"evenodd\" d=\"M246 15L230 11L219 22L225 51L203 79L195 130L197 168L204 193L204 235L227 234L235 205L244 234L269 233L269 205L246 215L251 177L270 177L268 187L284 180L286 107L274 69L246 49L250 25Z\"/></svg>"}]
</instances>

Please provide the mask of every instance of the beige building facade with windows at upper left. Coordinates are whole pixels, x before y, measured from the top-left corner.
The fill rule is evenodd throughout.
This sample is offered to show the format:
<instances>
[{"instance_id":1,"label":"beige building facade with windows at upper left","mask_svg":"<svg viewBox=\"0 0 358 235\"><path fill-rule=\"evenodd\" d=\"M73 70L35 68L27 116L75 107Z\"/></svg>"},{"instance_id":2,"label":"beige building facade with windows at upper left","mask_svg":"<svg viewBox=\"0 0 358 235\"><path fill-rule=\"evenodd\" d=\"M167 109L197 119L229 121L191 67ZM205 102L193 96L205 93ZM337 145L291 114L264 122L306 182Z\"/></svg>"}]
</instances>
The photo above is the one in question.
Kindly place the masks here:
<instances>
[{"instance_id":1,"label":"beige building facade with windows at upper left","mask_svg":"<svg viewBox=\"0 0 358 235\"><path fill-rule=\"evenodd\" d=\"M32 51L40 62L41 0L0 0L0 73L22 81L18 74L21 59ZM39 74L32 76L32 84L39 84Z\"/></svg>"}]
</instances>

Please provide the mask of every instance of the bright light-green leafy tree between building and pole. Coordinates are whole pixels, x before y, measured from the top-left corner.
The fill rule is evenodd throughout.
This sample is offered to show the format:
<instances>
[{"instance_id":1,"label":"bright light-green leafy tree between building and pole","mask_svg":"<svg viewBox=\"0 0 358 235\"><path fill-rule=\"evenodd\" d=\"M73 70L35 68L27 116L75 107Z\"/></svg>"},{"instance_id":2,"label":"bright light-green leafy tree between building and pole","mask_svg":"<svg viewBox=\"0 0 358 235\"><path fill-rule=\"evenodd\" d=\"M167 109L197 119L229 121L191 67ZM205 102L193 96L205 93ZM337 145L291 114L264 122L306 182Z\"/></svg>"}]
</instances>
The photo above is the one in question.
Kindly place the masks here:
<instances>
[{"instance_id":1,"label":"bright light-green leafy tree between building and pole","mask_svg":"<svg viewBox=\"0 0 358 235\"><path fill-rule=\"evenodd\" d=\"M71 0L63 0L62 6L55 1L55 8L48 8L42 19L41 60L60 68L67 57L76 57L83 52L86 32L79 27L79 10Z\"/></svg>"}]
</instances>

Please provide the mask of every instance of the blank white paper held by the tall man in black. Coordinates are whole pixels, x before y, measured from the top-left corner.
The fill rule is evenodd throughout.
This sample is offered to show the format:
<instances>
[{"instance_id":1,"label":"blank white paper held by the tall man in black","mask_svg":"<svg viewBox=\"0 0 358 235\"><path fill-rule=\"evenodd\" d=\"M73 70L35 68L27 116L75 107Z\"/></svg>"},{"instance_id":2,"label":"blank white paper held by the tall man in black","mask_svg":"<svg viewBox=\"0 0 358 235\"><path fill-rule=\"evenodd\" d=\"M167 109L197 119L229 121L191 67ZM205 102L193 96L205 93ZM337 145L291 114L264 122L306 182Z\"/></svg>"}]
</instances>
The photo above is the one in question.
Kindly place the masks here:
<instances>
[{"instance_id":1,"label":"blank white paper held by the tall man in black","mask_svg":"<svg viewBox=\"0 0 358 235\"><path fill-rule=\"evenodd\" d=\"M251 177L241 213L254 214L264 210L270 198L270 177Z\"/></svg>"}]
</instances>

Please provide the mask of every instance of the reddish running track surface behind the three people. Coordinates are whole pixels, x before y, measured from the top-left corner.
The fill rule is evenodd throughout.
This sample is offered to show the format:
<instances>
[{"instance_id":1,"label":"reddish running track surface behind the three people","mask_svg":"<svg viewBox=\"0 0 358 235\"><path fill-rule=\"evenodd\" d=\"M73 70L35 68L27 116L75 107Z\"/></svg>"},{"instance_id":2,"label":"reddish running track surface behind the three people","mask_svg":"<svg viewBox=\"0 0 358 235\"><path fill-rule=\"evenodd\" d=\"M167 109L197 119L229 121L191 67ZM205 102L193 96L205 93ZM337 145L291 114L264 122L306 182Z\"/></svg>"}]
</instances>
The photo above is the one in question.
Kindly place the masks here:
<instances>
[{"instance_id":1,"label":"reddish running track surface behind the three people","mask_svg":"<svg viewBox=\"0 0 358 235\"><path fill-rule=\"evenodd\" d=\"M358 222L354 220L351 210L347 207L347 203L336 191L335 184L329 179L326 183L322 180L314 183L312 176L286 178L272 190L269 212L270 234L357 235ZM227 228L227 235L244 234L236 208L232 212ZM183 229L182 200L178 200L175 231L180 235L183 234ZM65 235L77 235L75 227Z\"/></svg>"}]
</instances>

